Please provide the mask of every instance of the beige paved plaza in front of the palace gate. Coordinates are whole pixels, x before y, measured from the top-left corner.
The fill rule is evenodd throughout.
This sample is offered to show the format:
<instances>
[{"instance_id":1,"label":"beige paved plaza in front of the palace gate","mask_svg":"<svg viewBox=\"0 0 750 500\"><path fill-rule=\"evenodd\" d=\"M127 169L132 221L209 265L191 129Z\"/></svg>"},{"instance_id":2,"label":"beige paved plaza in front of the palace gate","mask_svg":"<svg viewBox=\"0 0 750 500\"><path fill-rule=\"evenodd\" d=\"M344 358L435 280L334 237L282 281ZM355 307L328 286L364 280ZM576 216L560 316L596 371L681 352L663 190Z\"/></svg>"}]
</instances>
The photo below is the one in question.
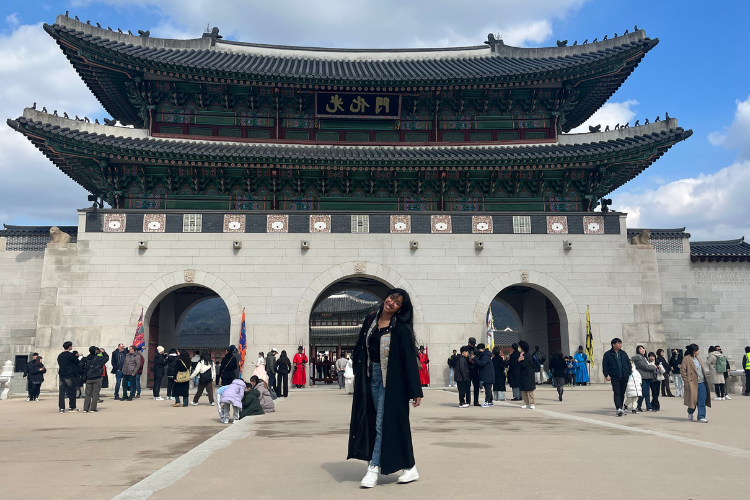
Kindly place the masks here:
<instances>
[{"instance_id":1,"label":"beige paved plaza in front of the palace gate","mask_svg":"<svg viewBox=\"0 0 750 500\"><path fill-rule=\"evenodd\" d=\"M709 423L699 424L685 419L681 398L665 398L657 414L615 418L604 385L566 390L562 403L553 390L539 389L533 411L510 403L461 410L455 393L429 389L412 412L420 480L397 485L396 475L381 476L374 490L360 491L364 464L345 460L351 397L335 389L293 391L276 413L232 426L219 424L205 399L183 409L108 398L97 415L58 415L56 399L0 403L3 497L19 498L33 486L54 488L50 496L60 499L179 499L186 492L447 498L459 491L726 499L745 495L750 460L750 399L739 395L713 402Z\"/></svg>"}]
</instances>

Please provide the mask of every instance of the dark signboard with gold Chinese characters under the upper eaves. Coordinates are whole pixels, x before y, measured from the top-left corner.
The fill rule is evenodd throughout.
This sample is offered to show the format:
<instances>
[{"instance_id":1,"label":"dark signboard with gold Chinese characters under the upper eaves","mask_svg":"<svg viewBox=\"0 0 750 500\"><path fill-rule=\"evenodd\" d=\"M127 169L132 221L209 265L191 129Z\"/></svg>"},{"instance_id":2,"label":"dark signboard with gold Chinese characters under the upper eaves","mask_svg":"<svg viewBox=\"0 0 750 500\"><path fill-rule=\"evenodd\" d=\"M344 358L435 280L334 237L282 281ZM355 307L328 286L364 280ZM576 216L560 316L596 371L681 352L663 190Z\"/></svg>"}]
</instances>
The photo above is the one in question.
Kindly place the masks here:
<instances>
[{"instance_id":1,"label":"dark signboard with gold Chinese characters under the upper eaves","mask_svg":"<svg viewBox=\"0 0 750 500\"><path fill-rule=\"evenodd\" d=\"M318 118L397 119L401 111L398 94L355 92L316 92L315 116Z\"/></svg>"}]
</instances>

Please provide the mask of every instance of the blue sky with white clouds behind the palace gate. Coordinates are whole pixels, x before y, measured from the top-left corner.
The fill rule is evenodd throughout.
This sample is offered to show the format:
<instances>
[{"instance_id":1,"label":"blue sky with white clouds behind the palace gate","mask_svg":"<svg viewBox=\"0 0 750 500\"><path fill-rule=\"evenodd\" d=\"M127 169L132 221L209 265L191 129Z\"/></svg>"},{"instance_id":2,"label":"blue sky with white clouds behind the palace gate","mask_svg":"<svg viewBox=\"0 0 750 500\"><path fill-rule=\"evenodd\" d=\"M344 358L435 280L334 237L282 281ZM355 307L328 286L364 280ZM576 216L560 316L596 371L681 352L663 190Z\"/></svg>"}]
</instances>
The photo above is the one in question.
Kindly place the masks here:
<instances>
[{"instance_id":1,"label":"blue sky with white clouds behind the palace gate","mask_svg":"<svg viewBox=\"0 0 750 500\"><path fill-rule=\"evenodd\" d=\"M460 7L459 7L460 6ZM610 37L635 24L659 38L593 123L670 116L693 136L612 194L631 227L688 226L694 239L750 236L750 3L604 0L4 0L0 89L4 117L39 105L71 116L107 116L38 26L71 16L152 36L194 38L207 24L229 39L341 47L477 45L488 32L506 43L550 46ZM606 120L606 121L604 121ZM75 223L86 193L18 134L0 127L0 222ZM41 185L44 187L39 187Z\"/></svg>"}]
</instances>

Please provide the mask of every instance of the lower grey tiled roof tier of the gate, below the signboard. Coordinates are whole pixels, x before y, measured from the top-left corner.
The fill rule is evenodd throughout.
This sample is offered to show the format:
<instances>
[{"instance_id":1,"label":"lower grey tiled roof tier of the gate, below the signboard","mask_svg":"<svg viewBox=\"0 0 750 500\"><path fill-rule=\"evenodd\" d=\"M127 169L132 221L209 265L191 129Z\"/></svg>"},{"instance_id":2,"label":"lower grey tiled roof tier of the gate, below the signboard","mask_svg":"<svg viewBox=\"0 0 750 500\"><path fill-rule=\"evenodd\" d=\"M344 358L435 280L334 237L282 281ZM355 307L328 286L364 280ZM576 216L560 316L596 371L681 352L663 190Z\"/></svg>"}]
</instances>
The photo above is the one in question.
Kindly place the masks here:
<instances>
[{"instance_id":1,"label":"lower grey tiled roof tier of the gate, below the signboard","mask_svg":"<svg viewBox=\"0 0 750 500\"><path fill-rule=\"evenodd\" d=\"M455 162L524 162L559 163L579 161L582 156L592 155L621 155L625 151L639 147L662 147L684 140L692 135L691 130L681 127L670 128L676 120L663 125L651 124L642 127L626 129L627 134L617 139L604 142L548 143L534 145L482 145L482 146L344 146L344 145L303 145L280 143L239 143L219 141L199 141L189 139L156 139L105 136L98 133L81 131L85 129L81 122L70 120L71 127L50 125L41 121L19 117L8 120L8 125L24 134L42 133L58 140L76 140L92 144L92 148L116 148L124 154L139 155L190 155L210 157L210 161L253 162L318 162L339 161L343 164L357 162L379 162L380 165L403 165L409 162L439 162L455 164ZM656 125L656 127L653 127ZM112 134L117 129L111 127ZM658 131L657 131L658 130ZM643 134L643 135L641 135ZM585 134L579 134L585 135ZM599 134L591 134L598 138ZM578 140L581 140L578 138ZM567 142L567 140L566 140Z\"/></svg>"}]
</instances>

